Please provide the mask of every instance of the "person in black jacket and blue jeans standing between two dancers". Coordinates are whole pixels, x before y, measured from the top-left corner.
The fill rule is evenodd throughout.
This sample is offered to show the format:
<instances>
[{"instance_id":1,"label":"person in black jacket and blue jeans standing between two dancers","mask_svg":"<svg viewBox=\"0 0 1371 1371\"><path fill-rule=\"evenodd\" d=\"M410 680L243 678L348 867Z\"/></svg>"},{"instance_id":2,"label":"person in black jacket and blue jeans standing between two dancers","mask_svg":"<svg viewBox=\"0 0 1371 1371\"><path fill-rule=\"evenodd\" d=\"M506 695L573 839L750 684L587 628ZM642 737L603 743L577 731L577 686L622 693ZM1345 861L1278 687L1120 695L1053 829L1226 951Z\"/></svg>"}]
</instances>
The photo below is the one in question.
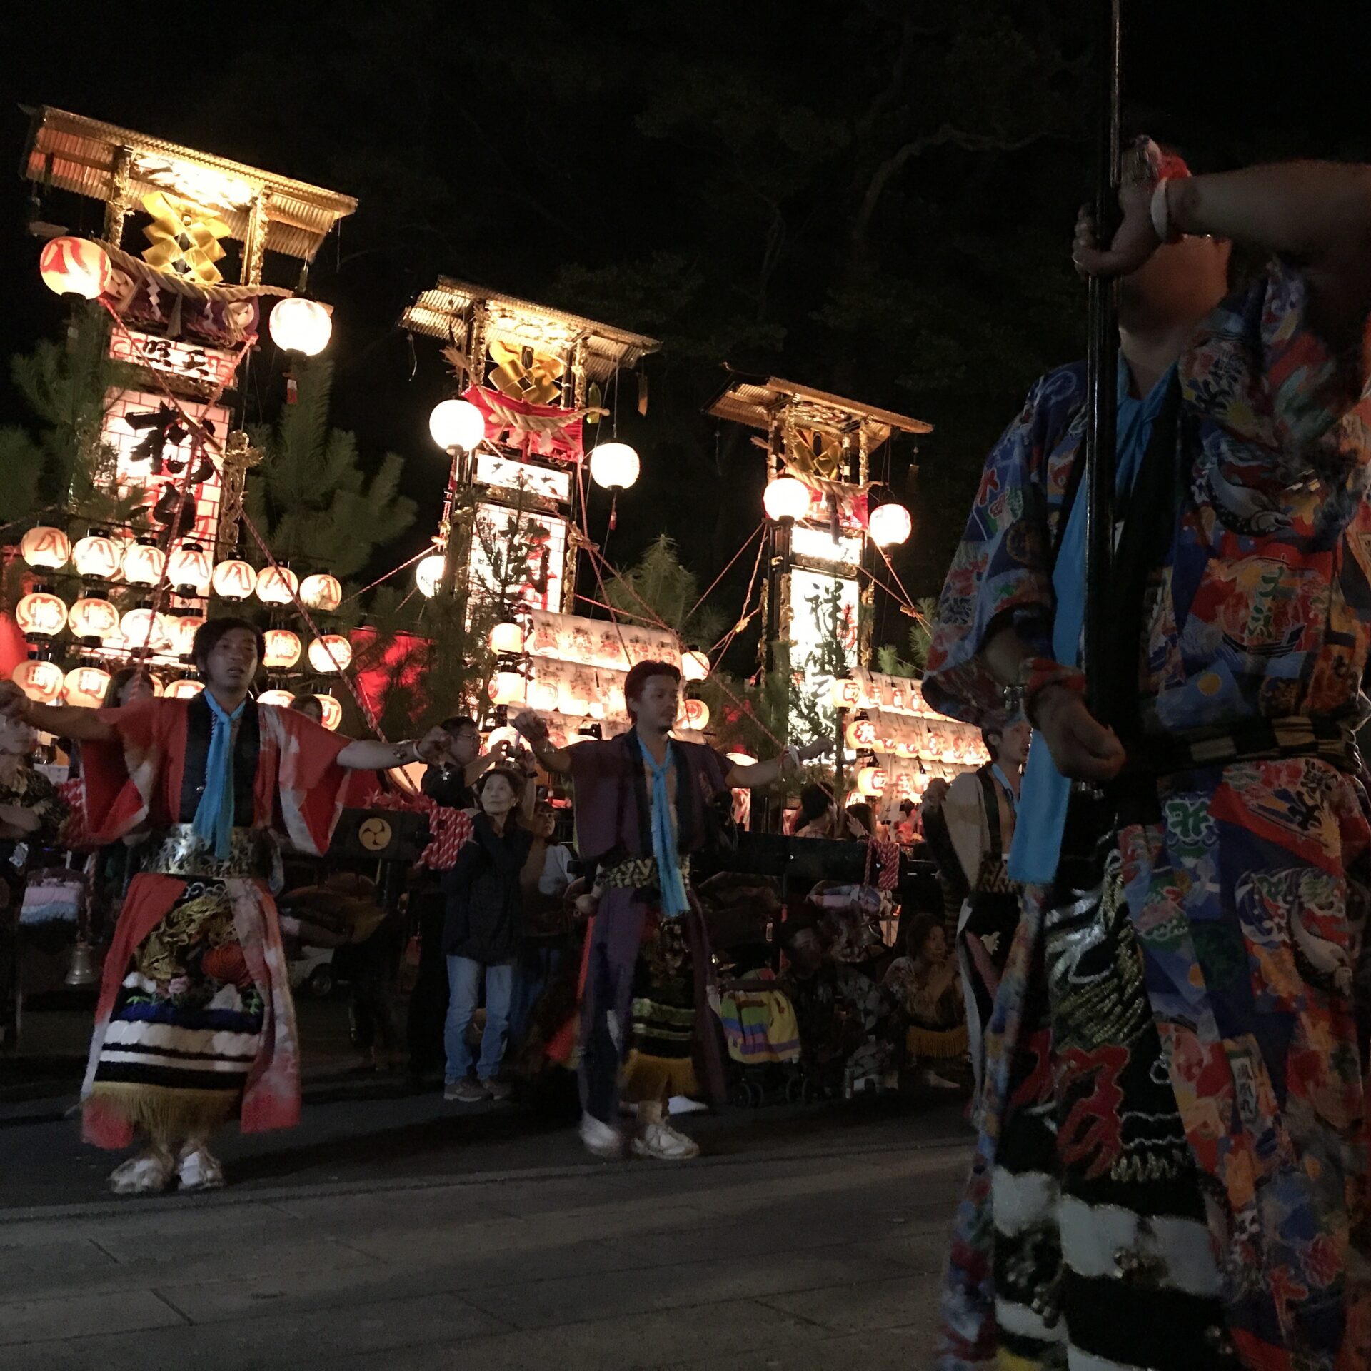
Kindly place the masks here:
<instances>
[{"instance_id":1,"label":"person in black jacket and blue jeans standing between two dancers","mask_svg":"<svg viewBox=\"0 0 1371 1371\"><path fill-rule=\"evenodd\" d=\"M443 875L447 919L443 951L447 954L450 999L444 1045L447 1086L444 1100L476 1104L505 1100L509 1084L496 1073L505 1057L514 978L518 975L524 936L524 901L520 872L533 846L533 835L515 821L524 777L494 766L476 783L478 810L473 832ZM472 1049L466 1030L476 1013L485 980L485 1032L477 1079L470 1079Z\"/></svg>"}]
</instances>

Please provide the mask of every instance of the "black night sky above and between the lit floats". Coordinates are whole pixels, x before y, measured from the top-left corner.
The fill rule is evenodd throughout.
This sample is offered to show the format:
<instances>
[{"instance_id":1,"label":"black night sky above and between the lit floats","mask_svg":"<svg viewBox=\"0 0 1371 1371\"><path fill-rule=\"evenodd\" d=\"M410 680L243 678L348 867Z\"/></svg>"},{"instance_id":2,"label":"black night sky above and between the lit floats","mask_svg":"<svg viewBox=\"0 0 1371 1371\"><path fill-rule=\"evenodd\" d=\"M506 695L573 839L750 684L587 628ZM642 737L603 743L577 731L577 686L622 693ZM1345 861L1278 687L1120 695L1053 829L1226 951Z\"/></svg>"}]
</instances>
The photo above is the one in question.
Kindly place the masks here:
<instances>
[{"instance_id":1,"label":"black night sky above and between the lit floats","mask_svg":"<svg viewBox=\"0 0 1371 1371\"><path fill-rule=\"evenodd\" d=\"M1124 8L1130 122L1197 170L1371 159L1364 5ZM52 104L359 197L310 284L336 306L335 422L372 459L400 452L420 502L374 570L439 517L446 459L426 421L444 367L418 339L411 380L395 321L447 273L666 340L647 418L632 384L618 402L643 478L613 561L665 531L707 583L755 528L761 457L702 414L731 362L935 425L897 565L914 595L936 592L987 444L1038 373L1083 350L1068 243L1091 166L1086 4L254 12L25 7L5 25L0 140L16 166L16 107ZM60 307L23 233L26 186L11 175L0 193L8 356L55 335ZM44 218L93 232L100 210L52 197ZM269 259L267 274L293 284L295 267ZM280 402L265 362L255 418ZM0 421L25 418L5 376ZM880 454L901 494L910 457L909 439ZM906 627L886 606L876 640ZM738 651L746 668L750 644Z\"/></svg>"}]
</instances>

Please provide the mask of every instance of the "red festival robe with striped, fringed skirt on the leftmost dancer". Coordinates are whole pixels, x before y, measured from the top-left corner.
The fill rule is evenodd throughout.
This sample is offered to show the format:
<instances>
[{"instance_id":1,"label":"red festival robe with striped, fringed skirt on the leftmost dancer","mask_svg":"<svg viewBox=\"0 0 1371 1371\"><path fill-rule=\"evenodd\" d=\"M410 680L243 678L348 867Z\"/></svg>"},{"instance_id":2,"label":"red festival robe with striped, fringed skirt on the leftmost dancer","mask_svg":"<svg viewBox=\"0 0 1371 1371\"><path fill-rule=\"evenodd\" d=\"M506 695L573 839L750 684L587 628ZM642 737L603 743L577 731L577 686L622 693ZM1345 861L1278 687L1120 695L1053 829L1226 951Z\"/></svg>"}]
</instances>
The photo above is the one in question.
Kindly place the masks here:
<instances>
[{"instance_id":1,"label":"red festival robe with striped, fringed skirt on the leftmost dancer","mask_svg":"<svg viewBox=\"0 0 1371 1371\"><path fill-rule=\"evenodd\" d=\"M159 875L185 847L206 779L203 696L100 716L110 743L82 743L86 823L97 843L151 829L104 964L86 1069L88 1142L123 1148L134 1130L204 1132L239 1115L244 1132L299 1121L295 1009L263 839L284 832L322 854L343 808L348 744L292 710L247 703L234 740L234 847L195 873ZM173 825L182 825L173 829ZM171 831L171 839L165 835ZM229 873L225 873L229 872Z\"/></svg>"}]
</instances>

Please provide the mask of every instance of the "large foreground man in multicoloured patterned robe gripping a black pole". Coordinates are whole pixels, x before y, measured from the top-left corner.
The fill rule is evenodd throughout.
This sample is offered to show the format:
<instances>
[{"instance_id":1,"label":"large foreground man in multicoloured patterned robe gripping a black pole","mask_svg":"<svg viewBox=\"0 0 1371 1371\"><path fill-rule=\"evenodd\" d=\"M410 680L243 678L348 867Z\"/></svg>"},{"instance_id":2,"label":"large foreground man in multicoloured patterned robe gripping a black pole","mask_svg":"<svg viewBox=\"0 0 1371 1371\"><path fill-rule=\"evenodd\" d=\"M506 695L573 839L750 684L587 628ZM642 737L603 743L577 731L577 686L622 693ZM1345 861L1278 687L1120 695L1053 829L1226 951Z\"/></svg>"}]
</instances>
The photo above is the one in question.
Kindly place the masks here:
<instances>
[{"instance_id":1,"label":"large foreground man in multicoloured patterned robe gripping a black pole","mask_svg":"<svg viewBox=\"0 0 1371 1371\"><path fill-rule=\"evenodd\" d=\"M1008 690L1039 733L938 1366L1352 1371L1371 1366L1352 742L1371 170L1191 177L1141 140L1123 182L1112 243L1083 214L1073 248L1119 281L1111 635L1090 683L1108 727L1078 668L1079 365L1036 383L990 455L924 681L971 721ZM1230 292L1234 240L1272 265ZM1073 780L1108 816L1084 862Z\"/></svg>"}]
</instances>

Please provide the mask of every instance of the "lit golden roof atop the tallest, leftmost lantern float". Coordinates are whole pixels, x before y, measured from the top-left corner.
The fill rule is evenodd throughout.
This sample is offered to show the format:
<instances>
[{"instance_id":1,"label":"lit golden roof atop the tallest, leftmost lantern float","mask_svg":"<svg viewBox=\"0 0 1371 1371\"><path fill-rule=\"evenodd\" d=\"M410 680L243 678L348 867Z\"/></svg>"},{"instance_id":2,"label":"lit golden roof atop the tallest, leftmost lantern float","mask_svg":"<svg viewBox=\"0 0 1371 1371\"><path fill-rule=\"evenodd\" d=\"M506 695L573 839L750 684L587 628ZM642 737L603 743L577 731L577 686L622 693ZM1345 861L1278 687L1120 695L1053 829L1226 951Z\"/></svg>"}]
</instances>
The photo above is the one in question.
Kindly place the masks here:
<instances>
[{"instance_id":1,"label":"lit golden roof atop the tallest, leftmost lantern float","mask_svg":"<svg viewBox=\"0 0 1371 1371\"><path fill-rule=\"evenodd\" d=\"M32 123L21 174L40 185L108 202L115 193L117 159L128 149L134 202L154 191L171 191L214 210L229 225L232 237L241 241L250 206L266 192L267 250L304 260L311 260L333 225L356 208L350 195L184 148L166 138L51 106L23 110Z\"/></svg>"}]
</instances>

